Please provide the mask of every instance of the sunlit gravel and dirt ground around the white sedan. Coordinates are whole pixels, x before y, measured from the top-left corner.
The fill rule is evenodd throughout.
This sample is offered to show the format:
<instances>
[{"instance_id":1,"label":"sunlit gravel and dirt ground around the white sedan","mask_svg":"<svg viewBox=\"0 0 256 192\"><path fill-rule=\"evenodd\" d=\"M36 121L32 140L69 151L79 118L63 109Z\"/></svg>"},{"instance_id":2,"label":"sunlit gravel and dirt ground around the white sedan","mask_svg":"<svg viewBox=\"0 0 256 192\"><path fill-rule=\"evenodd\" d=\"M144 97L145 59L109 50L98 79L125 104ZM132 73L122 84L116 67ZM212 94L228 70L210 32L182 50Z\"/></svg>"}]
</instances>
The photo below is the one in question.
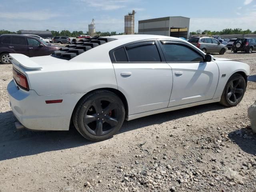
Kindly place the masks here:
<instances>
[{"instance_id":1,"label":"sunlit gravel and dirt ground around the white sedan","mask_svg":"<svg viewBox=\"0 0 256 192\"><path fill-rule=\"evenodd\" d=\"M218 55L216 55L218 56ZM256 52L220 56L246 62ZM6 86L12 66L0 65L0 192L256 191L256 134L242 102L156 114L130 122L110 140L89 142L69 131L16 131Z\"/></svg>"}]
</instances>

